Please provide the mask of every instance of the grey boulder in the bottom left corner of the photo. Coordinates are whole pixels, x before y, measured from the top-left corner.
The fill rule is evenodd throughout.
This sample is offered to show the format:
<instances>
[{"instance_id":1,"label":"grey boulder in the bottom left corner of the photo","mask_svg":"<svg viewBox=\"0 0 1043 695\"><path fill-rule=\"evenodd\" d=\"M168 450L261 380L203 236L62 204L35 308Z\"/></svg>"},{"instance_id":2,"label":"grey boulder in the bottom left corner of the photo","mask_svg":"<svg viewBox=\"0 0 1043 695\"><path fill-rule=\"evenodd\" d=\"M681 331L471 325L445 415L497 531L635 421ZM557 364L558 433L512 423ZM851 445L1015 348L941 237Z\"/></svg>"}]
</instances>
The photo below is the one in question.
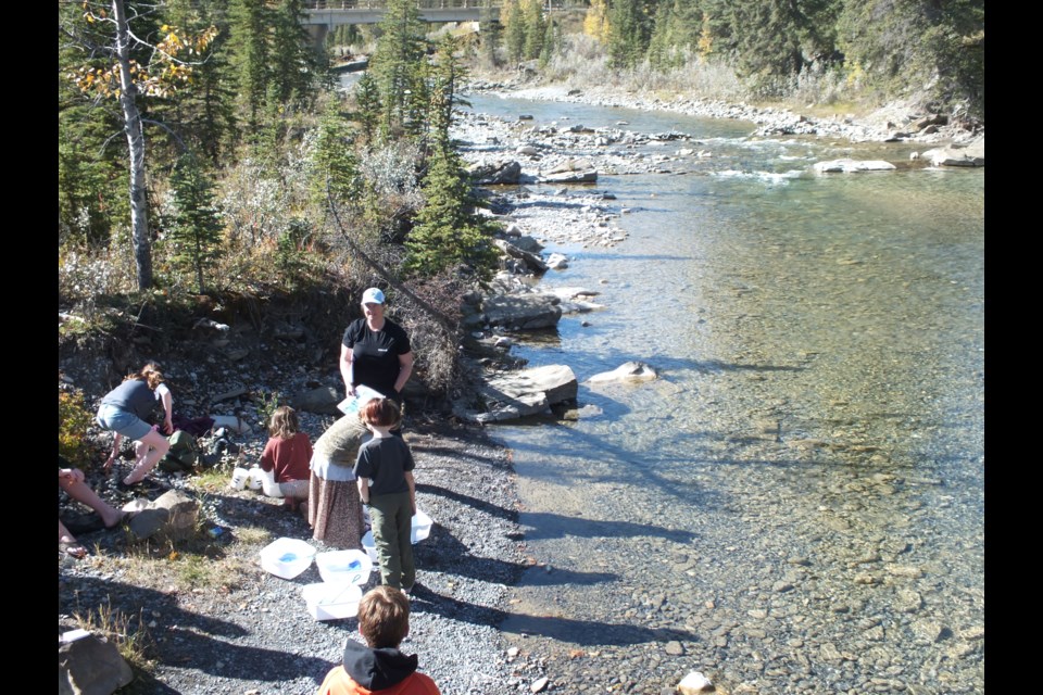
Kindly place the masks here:
<instances>
[{"instance_id":1,"label":"grey boulder in the bottom left corner of the photo","mask_svg":"<svg viewBox=\"0 0 1043 695\"><path fill-rule=\"evenodd\" d=\"M133 680L134 671L104 637L71 630L59 639L59 695L112 695Z\"/></svg>"}]
</instances>

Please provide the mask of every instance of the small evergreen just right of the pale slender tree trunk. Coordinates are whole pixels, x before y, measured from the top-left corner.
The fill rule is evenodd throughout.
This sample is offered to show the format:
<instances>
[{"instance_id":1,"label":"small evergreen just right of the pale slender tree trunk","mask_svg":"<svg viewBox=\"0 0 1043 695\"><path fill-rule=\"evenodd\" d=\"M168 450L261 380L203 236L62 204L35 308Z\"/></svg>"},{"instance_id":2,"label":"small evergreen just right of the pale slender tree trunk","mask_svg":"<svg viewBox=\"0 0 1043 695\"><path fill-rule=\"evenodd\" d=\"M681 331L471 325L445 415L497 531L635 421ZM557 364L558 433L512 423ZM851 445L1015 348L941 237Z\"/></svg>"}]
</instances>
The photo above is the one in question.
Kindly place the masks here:
<instances>
[{"instance_id":1,"label":"small evergreen just right of the pale slender tree trunk","mask_svg":"<svg viewBox=\"0 0 1043 695\"><path fill-rule=\"evenodd\" d=\"M183 155L171 175L174 189L174 219L169 239L174 260L196 276L203 293L203 271L221 253L222 224L214 202L214 186L192 154Z\"/></svg>"}]
</instances>

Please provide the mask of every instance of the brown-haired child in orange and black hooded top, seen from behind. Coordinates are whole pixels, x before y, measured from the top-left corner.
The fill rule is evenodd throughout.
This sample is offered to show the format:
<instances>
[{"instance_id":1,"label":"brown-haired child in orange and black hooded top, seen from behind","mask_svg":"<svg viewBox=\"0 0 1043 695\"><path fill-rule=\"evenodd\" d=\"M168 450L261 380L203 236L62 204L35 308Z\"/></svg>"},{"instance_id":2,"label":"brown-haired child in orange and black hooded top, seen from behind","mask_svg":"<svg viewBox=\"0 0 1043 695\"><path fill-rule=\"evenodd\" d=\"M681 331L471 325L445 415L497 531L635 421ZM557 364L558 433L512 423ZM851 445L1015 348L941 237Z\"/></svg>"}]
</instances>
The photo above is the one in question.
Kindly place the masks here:
<instances>
[{"instance_id":1,"label":"brown-haired child in orange and black hooded top, seen from behind","mask_svg":"<svg viewBox=\"0 0 1043 695\"><path fill-rule=\"evenodd\" d=\"M441 695L430 677L416 672L416 655L399 650L410 633L410 599L402 592L377 586L366 593L359 602L359 632L368 647L349 639L343 666L326 675L317 695Z\"/></svg>"}]
</instances>

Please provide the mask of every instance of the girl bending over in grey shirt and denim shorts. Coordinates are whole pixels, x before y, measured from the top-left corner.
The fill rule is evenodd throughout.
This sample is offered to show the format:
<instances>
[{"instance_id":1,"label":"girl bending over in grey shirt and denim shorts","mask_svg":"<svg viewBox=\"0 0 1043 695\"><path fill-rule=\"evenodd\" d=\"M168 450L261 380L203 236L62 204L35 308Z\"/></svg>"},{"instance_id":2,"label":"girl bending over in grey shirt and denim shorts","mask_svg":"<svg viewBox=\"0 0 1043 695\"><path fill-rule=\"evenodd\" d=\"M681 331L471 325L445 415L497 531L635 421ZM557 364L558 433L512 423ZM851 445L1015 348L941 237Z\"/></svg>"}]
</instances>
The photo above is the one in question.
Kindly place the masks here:
<instances>
[{"instance_id":1,"label":"girl bending over in grey shirt and denim shorts","mask_svg":"<svg viewBox=\"0 0 1043 695\"><path fill-rule=\"evenodd\" d=\"M163 404L163 427L153 428L146 419L155 407L155 402ZM96 417L98 425L115 432L112 442L112 455L105 462L108 472L120 455L120 442L124 437L135 440L134 468L122 481L122 486L137 484L144 480L161 458L171 448L171 443L163 435L174 433L173 417L174 397L164 383L163 372L155 363L141 367L140 371L127 375L118 387L101 399Z\"/></svg>"}]
</instances>

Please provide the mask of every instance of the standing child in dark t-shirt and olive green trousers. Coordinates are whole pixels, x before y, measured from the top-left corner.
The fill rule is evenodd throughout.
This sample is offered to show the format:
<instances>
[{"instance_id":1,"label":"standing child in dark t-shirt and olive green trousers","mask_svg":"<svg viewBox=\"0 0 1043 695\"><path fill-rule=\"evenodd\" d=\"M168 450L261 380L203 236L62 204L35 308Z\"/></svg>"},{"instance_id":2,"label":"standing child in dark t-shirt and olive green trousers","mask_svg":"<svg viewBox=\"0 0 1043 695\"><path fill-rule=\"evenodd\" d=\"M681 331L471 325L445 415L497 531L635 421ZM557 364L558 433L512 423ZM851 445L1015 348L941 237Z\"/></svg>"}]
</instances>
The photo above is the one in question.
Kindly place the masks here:
<instances>
[{"instance_id":1,"label":"standing child in dark t-shirt and olive green trousers","mask_svg":"<svg viewBox=\"0 0 1043 695\"><path fill-rule=\"evenodd\" d=\"M373 542L380 563L380 583L409 593L416 581L410 533L416 514L413 454L401 437L399 406L390 399L373 399L359 412L373 439L359 448L355 476L359 496L369 508Z\"/></svg>"}]
</instances>

